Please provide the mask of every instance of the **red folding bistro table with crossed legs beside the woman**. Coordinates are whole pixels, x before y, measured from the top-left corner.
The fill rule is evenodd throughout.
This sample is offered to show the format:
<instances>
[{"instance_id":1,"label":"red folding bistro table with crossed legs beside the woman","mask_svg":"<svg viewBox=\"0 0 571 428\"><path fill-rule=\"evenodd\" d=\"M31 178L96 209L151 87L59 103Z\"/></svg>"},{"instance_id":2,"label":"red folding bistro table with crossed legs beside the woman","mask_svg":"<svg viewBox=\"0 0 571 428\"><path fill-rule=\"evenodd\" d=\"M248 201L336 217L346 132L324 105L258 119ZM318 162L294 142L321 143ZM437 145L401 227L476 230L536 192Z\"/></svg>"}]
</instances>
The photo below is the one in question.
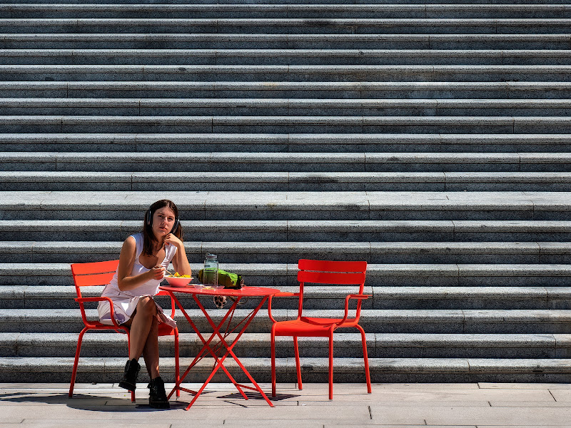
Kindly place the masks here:
<instances>
[{"instance_id":1,"label":"red folding bistro table with crossed legs beside the woman","mask_svg":"<svg viewBox=\"0 0 571 428\"><path fill-rule=\"evenodd\" d=\"M168 394L168 398L171 398L171 395L177 390L189 392L190 394L194 395L192 401L190 402L190 404L188 404L188 407L186 407L186 410L190 409L191 406L196 401L196 399L198 398L198 396L203 392L204 388L206 388L206 385L208 385L208 382L211 381L214 374L216 374L216 372L218 372L218 369L222 369L226 373L226 375L228 376L228 379L230 379L230 381L234 384L236 389L238 389L238 392L240 392L240 394L242 394L242 397L244 397L244 399L248 399L248 397L246 397L246 394L244 394L242 388L253 389L254 391L258 391L260 394L262 394L262 397L266 400L266 402L268 404L270 404L271 407L273 407L272 402L268 399L266 394L264 394L262 389L258 386L256 381L253 379L252 375L248 372L248 370L246 370L246 367L244 367L242 365L242 363L240 362L240 360L238 360L238 357L236 357L236 354L234 354L232 349L236 345L236 343L238 343L238 340L240 339L241 335L246 330L246 327L248 327L248 325L250 325L250 322L256 316L256 313L258 313L258 310L260 310L262 305L266 302L266 300L268 300L268 297L271 295L275 295L277 292L280 292L280 290L278 290L276 288L266 288L266 287L242 287L240 290L231 290L231 289L227 289L227 288L221 288L218 290L210 290L210 289L206 289L206 288L196 288L196 287L193 287L192 285L186 286L186 287L159 287L159 288L161 290L168 292L168 294L173 297L173 300L176 302L176 305L181 310L181 312L183 312L184 317L186 318L188 323L191 325L192 329L196 332L198 337L200 337L200 339L203 343L201 350L198 352L198 354L194 358L193 362L191 362L191 365L188 366L188 369L186 369L186 372L184 372L184 374L181 376L181 378L176 382L175 387L173 388L171 393ZM183 305L181 305L181 302L179 302L178 299L176 298L175 293L178 293L178 292L191 294L194 301L196 302L196 305L198 305L198 307L203 312L204 316L206 317L206 320L208 321L208 324L210 324L211 327L213 328L213 332L211 333L210 337L208 337L208 340L206 340L203 337L203 335L201 335L201 332L198 331L198 328L196 328L196 325L191 320L191 317L189 317L188 314L186 313L186 310L184 310L184 307L183 307ZM226 315L222 318L221 322L219 322L218 325L216 325L213 322L210 315L208 315L208 312L206 312L206 309L202 305L201 301L198 299L199 295L230 296L230 297L236 297L236 300L232 303L230 309L228 309L228 312L226 312ZM228 320L228 326L227 326L227 329L229 330L228 327L230 327L230 322L233 318L234 311L236 310L236 306L238 305L238 302L240 301L241 297L262 297L262 299L261 299L261 302L258 304L258 306L256 306L255 309L251 310L251 312L248 315L246 315L246 317L244 317L243 320L238 322L238 325L236 325L236 327L234 327L234 329L231 331L231 332L234 332L234 330L236 330L241 325L241 330L238 332L238 334L234 338L232 344L228 345L228 342L226 342L225 337L228 335L229 332L224 332L223 334L221 334L220 330L221 330L221 327L223 327L226 320L228 320L228 318L230 318ZM216 348L216 349L213 349L213 347L211 346L211 342L215 337L218 337L220 342L218 342L216 345L214 345L214 348ZM221 345L221 347L223 349L226 349L226 352L224 352L224 354L221 357L219 357L216 354L216 352L221 349L221 347L219 345ZM212 369L210 376L208 376L208 379L206 379L206 382L204 382L201 389L199 389L198 392L196 392L196 391L193 391L191 389L186 389L186 388L181 387L181 383L183 382L183 380L186 377L186 375L188 374L188 372L191 371L191 369L196 365L196 363L198 363L198 361L202 360L203 357L206 357L207 353L212 355L212 357L214 358L214 361L215 361L215 365ZM231 355L233 357L233 359L236 361L238 366L242 369L244 374L246 374L248 379L250 379L250 382L252 382L253 387L250 387L248 385L238 384L238 382L236 382L236 380L232 377L230 372L228 372L226 367L224 367L223 363L224 363L224 360L226 360L226 357L228 357L228 355Z\"/></svg>"}]
</instances>

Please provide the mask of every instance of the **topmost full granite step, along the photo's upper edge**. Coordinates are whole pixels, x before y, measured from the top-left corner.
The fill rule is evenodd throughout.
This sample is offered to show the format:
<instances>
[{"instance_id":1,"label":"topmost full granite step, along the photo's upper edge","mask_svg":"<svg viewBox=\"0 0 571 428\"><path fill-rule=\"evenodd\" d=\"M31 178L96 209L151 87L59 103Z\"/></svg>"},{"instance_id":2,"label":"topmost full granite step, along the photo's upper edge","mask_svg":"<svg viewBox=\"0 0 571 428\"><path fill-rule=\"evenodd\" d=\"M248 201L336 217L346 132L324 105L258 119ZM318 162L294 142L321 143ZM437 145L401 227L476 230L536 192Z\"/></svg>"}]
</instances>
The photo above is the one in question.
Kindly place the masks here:
<instances>
[{"instance_id":1,"label":"topmost full granite step, along the photo's upper edge","mask_svg":"<svg viewBox=\"0 0 571 428\"><path fill-rule=\"evenodd\" d=\"M569 19L568 4L0 4L6 19Z\"/></svg>"}]
</instances>

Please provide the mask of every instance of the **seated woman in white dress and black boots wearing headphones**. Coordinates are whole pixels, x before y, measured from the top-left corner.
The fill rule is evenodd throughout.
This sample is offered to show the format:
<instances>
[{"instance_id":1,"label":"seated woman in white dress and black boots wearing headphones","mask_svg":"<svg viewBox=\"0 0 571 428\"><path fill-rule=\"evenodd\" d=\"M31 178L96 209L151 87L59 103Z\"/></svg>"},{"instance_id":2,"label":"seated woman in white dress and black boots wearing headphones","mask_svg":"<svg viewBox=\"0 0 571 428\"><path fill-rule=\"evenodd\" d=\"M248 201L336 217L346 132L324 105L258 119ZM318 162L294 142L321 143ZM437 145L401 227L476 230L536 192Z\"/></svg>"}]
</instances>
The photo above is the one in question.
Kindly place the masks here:
<instances>
[{"instance_id":1,"label":"seated woman in white dress and black boots wearing headphones","mask_svg":"<svg viewBox=\"0 0 571 428\"><path fill-rule=\"evenodd\" d=\"M119 386L134 391L143 355L151 377L148 402L151 407L169 408L163 379L158 372L158 324L176 323L163 314L153 300L169 263L176 272L191 275L183 245L183 230L178 221L178 208L171 200L158 200L145 213L143 231L129 236L123 243L117 272L106 285L104 297L111 297L118 324L130 330L129 359ZM112 324L108 302L98 305L99 319Z\"/></svg>"}]
</instances>

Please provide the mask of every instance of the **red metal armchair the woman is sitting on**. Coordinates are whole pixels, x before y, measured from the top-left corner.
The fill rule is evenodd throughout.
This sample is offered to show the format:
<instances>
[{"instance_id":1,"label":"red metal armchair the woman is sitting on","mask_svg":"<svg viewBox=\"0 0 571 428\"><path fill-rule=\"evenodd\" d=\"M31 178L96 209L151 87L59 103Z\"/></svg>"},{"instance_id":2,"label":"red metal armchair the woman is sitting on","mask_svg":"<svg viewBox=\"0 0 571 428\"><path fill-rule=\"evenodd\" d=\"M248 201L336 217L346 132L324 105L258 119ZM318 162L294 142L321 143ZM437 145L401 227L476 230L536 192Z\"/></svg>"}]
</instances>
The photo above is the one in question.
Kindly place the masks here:
<instances>
[{"instance_id":1,"label":"red metal armchair the woman is sitting on","mask_svg":"<svg viewBox=\"0 0 571 428\"><path fill-rule=\"evenodd\" d=\"M79 309L81 310L81 318L84 321L84 330L79 333L79 339L77 340L76 358L74 360L74 370L71 372L71 383L69 384L69 397L74 394L74 384L76 382L77 365L79 362L79 352L81 351L81 341L84 338L85 332L88 330L115 330L118 333L126 333L127 335L127 346L128 349L131 345L131 340L129 337L129 329L127 327L122 327L117 324L115 317L112 318L113 325L102 324L99 321L89 321L85 313L85 302L101 302L107 300L109 305L113 307L113 302L109 297L83 297L81 296L81 287L90 287L93 285L106 285L111 281L111 278L117 270L119 260L109 260L106 262L96 262L96 263L74 263L71 265L71 273L74 275L74 284L76 286L76 302L79 303ZM160 291L157 295L168 295L168 292ZM174 318L175 305L173 299L171 298L171 318ZM174 357L175 357L175 377L176 382L178 382L179 370L178 370L178 329L172 328L166 324L158 325L158 335L159 336L174 336ZM176 396L180 396L180 392L177 391ZM135 401L135 392L131 391L131 401Z\"/></svg>"}]
</instances>

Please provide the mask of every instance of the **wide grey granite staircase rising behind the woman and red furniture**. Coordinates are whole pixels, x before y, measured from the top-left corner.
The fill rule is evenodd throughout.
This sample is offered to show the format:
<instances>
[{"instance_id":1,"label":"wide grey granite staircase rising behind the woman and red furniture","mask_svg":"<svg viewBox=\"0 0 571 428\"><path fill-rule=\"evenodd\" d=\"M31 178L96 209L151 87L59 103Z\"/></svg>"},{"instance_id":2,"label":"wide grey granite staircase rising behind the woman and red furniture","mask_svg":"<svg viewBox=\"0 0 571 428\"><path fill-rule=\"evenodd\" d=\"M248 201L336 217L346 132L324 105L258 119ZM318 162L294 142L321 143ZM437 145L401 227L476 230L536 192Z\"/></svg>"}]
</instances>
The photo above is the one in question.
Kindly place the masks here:
<instances>
[{"instance_id":1,"label":"wide grey granite staircase rising behind the woman and red furniture","mask_svg":"<svg viewBox=\"0 0 571 428\"><path fill-rule=\"evenodd\" d=\"M117 258L161 198L194 270L212 252L293 291L300 258L367 260L373 382L570 381L571 5L321 3L0 4L0 382L69 382L69 264ZM304 307L346 292L308 285ZM258 315L236 352L267 382ZM364 381L358 334L337 339L336 382ZM300 353L326 382L325 342ZM78 382L116 382L126 338L81 355ZM277 355L294 382L290 340Z\"/></svg>"}]
</instances>

